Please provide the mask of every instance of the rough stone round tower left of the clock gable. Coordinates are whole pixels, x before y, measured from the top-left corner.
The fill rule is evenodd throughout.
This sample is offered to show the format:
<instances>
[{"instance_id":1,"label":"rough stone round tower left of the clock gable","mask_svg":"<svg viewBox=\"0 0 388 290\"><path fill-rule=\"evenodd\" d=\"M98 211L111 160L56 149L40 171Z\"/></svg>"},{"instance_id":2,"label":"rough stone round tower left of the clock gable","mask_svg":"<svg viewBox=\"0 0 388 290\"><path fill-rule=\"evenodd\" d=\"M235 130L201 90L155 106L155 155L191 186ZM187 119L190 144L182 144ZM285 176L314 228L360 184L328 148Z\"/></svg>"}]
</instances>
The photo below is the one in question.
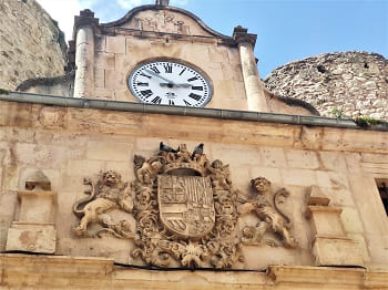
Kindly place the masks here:
<instances>
[{"instance_id":1,"label":"rough stone round tower left of the clock gable","mask_svg":"<svg viewBox=\"0 0 388 290\"><path fill-rule=\"evenodd\" d=\"M34 0L0 1L0 87L64 73L64 35Z\"/></svg>"}]
</instances>

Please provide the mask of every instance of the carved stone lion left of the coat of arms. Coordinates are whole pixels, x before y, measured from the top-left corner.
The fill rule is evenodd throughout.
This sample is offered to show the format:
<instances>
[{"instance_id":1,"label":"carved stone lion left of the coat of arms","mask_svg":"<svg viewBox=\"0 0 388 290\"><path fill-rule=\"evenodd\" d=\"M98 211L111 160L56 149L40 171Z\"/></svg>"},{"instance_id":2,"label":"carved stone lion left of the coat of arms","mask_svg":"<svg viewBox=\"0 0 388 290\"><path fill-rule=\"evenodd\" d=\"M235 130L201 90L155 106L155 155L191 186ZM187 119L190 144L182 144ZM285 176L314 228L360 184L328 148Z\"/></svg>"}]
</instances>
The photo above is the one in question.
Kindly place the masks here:
<instances>
[{"instance_id":1,"label":"carved stone lion left of the coat of arms","mask_svg":"<svg viewBox=\"0 0 388 290\"><path fill-rule=\"evenodd\" d=\"M84 178L84 184L91 186L91 190L85 191L88 197L81 199L73 206L74 214L81 218L74 232L80 237L94 237L102 234L111 234L118 238L132 238L130 222L120 220L115 222L109 211L115 208L132 213L133 201L131 198L131 187L121 180L121 175L109 170L100 174L96 182ZM102 226L91 234L88 231L90 224L98 222Z\"/></svg>"}]
</instances>

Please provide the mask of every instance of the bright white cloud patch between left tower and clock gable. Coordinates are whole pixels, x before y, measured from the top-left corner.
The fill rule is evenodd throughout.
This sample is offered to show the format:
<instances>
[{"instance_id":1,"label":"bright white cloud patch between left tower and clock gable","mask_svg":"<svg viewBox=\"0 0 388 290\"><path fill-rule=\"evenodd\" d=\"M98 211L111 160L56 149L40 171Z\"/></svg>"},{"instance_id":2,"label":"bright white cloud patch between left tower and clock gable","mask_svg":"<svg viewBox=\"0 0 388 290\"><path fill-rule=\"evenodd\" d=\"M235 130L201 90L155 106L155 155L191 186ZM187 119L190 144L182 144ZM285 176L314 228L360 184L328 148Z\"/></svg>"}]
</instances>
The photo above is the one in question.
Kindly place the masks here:
<instances>
[{"instance_id":1,"label":"bright white cloud patch between left tower and clock gable","mask_svg":"<svg viewBox=\"0 0 388 290\"><path fill-rule=\"evenodd\" d=\"M72 39L74 15L82 9L91 8L95 0L37 0L40 6L57 20L67 40Z\"/></svg>"}]
</instances>

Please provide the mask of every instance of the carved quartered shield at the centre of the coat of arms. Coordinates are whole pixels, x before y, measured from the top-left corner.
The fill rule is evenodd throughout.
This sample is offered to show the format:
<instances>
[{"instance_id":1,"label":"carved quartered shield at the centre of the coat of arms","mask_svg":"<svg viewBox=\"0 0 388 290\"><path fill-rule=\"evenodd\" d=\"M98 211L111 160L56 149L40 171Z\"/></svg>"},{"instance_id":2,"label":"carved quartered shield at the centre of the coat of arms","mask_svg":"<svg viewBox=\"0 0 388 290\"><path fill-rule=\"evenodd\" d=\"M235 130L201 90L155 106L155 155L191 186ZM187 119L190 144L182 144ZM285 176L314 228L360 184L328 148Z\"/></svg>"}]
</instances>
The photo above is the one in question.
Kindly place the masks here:
<instances>
[{"instance_id":1,"label":"carved quartered shield at the centre of the coat of arms","mask_svg":"<svg viewBox=\"0 0 388 290\"><path fill-rule=\"evenodd\" d=\"M157 201L164 227L183 238L201 238L215 225L210 177L159 175Z\"/></svg>"}]
</instances>

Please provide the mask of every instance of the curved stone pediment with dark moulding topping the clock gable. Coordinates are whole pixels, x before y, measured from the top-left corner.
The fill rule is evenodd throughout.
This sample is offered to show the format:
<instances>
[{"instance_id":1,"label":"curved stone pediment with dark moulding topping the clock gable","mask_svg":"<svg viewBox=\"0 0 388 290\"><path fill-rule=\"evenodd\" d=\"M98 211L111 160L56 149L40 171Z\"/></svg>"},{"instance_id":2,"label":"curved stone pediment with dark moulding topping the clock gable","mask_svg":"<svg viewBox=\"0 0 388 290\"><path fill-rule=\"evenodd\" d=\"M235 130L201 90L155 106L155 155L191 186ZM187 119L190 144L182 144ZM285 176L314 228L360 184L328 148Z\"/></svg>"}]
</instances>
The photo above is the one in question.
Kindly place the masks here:
<instances>
[{"instance_id":1,"label":"curved stone pediment with dark moulding topping the clock gable","mask_svg":"<svg viewBox=\"0 0 388 290\"><path fill-rule=\"evenodd\" d=\"M208 28L193 13L165 6L141 6L132 9L122 19L101 24L105 28L125 28L184 35L229 39Z\"/></svg>"}]
</instances>

